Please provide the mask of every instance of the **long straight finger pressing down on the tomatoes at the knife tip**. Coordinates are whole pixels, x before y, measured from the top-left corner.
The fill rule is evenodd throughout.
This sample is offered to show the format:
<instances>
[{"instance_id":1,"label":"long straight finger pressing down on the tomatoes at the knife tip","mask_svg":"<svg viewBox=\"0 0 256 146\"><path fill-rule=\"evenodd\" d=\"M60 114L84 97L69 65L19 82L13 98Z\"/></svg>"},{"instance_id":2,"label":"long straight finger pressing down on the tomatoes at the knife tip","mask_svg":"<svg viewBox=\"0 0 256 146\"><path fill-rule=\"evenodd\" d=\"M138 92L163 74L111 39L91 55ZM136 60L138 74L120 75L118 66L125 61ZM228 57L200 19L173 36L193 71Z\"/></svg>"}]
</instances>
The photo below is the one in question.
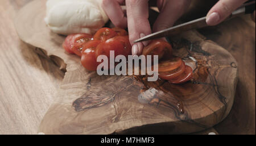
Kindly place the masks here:
<instances>
[{"instance_id":1,"label":"long straight finger pressing down on the tomatoes at the knife tip","mask_svg":"<svg viewBox=\"0 0 256 146\"><path fill-rule=\"evenodd\" d=\"M148 0L126 0L127 22L129 39L133 55L141 55L142 50L148 41L133 43L135 40L151 34L148 21Z\"/></svg>"}]
</instances>

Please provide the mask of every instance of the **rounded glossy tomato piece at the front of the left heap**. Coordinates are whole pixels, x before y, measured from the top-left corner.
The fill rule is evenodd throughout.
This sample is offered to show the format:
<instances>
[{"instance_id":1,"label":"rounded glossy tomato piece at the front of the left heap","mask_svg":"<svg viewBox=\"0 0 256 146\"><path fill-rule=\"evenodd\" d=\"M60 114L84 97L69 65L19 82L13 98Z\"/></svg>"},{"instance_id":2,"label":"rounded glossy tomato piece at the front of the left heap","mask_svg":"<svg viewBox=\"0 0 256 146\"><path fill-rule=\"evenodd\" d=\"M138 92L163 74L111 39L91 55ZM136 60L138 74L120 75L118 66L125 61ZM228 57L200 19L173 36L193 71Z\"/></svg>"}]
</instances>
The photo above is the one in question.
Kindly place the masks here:
<instances>
[{"instance_id":1,"label":"rounded glossy tomato piece at the front of the left heap","mask_svg":"<svg viewBox=\"0 0 256 146\"><path fill-rule=\"evenodd\" d=\"M98 62L95 57L95 49L101 41L89 41L82 47L81 63L84 68L90 71L96 71Z\"/></svg>"}]
</instances>

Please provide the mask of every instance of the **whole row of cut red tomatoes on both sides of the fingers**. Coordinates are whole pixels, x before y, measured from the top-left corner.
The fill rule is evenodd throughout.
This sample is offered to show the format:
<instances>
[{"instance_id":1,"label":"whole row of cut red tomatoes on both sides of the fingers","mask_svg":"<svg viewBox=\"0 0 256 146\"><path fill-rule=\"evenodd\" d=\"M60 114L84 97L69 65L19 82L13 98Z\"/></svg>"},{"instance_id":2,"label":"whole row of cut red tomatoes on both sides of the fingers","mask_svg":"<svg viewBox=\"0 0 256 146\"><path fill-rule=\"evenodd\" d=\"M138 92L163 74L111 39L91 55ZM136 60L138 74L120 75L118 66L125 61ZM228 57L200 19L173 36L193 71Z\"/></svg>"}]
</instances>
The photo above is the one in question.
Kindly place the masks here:
<instances>
[{"instance_id":1,"label":"whole row of cut red tomatoes on both sides of the fingers","mask_svg":"<svg viewBox=\"0 0 256 146\"><path fill-rule=\"evenodd\" d=\"M89 34L68 35L63 43L65 51L81 57L81 64L90 71L96 71L100 62L97 57L106 55L110 57L110 51L115 56L131 55L131 44L128 32L121 28L101 28L94 36ZM164 40L152 40L143 49L142 55L158 55L159 77L168 80L172 84L181 84L192 78L191 67L185 65L184 61L172 56L172 46Z\"/></svg>"}]
</instances>

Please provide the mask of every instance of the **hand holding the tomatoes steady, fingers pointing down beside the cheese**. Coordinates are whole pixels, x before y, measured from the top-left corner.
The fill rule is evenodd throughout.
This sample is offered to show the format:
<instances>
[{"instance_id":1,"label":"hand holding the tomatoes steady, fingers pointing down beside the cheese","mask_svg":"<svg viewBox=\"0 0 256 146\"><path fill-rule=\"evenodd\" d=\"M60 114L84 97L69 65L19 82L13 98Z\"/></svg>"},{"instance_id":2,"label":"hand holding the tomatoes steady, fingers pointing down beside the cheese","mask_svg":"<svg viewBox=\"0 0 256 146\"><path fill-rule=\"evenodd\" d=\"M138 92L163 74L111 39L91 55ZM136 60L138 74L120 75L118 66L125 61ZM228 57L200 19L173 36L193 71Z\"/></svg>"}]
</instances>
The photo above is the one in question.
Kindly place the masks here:
<instances>
[{"instance_id":1,"label":"hand holding the tomatoes steady, fingers pointing down beside the cheese","mask_svg":"<svg viewBox=\"0 0 256 146\"><path fill-rule=\"evenodd\" d=\"M128 27L130 43L133 46L133 55L141 55L144 46L148 44L148 41L134 44L135 40L151 34L152 31L156 32L171 27L191 3L191 0L157 0L160 14L151 31L148 21L148 1L104 0L102 3L103 9L115 26L121 28ZM121 9L121 5L125 3L127 17Z\"/></svg>"}]
</instances>

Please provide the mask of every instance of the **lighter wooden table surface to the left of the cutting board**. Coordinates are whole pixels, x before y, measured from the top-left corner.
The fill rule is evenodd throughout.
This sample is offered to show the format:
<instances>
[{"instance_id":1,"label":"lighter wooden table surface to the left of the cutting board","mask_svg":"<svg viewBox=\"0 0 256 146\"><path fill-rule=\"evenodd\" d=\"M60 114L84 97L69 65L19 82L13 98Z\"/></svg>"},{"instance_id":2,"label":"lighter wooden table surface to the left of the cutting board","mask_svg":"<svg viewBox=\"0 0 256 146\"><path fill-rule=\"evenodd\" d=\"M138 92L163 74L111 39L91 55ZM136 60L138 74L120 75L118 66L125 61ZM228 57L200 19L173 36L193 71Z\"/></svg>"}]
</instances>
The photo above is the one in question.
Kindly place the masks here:
<instances>
[{"instance_id":1,"label":"lighter wooden table surface to the left of the cutting board","mask_svg":"<svg viewBox=\"0 0 256 146\"><path fill-rule=\"evenodd\" d=\"M26 0L0 0L0 134L37 134L64 73L20 41L13 20Z\"/></svg>"}]
</instances>

